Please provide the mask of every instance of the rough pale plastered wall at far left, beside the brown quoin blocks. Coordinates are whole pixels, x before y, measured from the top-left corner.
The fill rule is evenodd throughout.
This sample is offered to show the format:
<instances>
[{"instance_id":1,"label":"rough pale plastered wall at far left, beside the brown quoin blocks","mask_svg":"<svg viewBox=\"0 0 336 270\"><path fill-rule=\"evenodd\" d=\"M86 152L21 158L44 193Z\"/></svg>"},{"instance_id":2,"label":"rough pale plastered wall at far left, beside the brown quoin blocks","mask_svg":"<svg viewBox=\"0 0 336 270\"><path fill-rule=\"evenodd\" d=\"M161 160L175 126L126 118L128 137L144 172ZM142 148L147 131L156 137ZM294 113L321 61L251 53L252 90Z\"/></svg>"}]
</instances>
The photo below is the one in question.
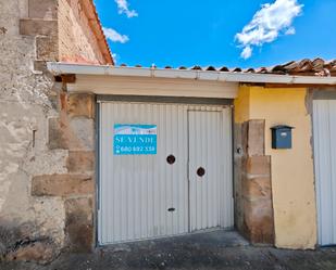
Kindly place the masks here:
<instances>
[{"instance_id":1,"label":"rough pale plastered wall at far left, beside the brown quoin blocks","mask_svg":"<svg viewBox=\"0 0 336 270\"><path fill-rule=\"evenodd\" d=\"M0 256L47 261L64 245L64 203L32 196L30 180L66 172L67 153L48 147L48 118L58 115L53 101L61 86L35 72L34 63L36 44L53 33L55 21L50 15L46 27L21 21L29 17L24 0L0 1Z\"/></svg>"}]
</instances>

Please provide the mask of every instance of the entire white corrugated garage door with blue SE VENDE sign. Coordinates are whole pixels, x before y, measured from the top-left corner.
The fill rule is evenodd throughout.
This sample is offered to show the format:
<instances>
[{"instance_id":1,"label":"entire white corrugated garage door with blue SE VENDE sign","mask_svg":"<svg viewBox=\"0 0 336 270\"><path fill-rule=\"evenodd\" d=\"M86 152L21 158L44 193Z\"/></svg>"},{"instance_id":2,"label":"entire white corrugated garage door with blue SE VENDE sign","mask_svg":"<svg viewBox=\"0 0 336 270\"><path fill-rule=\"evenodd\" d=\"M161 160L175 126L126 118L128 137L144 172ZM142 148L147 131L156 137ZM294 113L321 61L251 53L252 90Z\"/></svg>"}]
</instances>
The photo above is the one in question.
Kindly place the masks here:
<instances>
[{"instance_id":1,"label":"entire white corrugated garage door with blue SE VENDE sign","mask_svg":"<svg viewBox=\"0 0 336 270\"><path fill-rule=\"evenodd\" d=\"M232 228L231 140L229 107L100 103L99 243Z\"/></svg>"}]
</instances>

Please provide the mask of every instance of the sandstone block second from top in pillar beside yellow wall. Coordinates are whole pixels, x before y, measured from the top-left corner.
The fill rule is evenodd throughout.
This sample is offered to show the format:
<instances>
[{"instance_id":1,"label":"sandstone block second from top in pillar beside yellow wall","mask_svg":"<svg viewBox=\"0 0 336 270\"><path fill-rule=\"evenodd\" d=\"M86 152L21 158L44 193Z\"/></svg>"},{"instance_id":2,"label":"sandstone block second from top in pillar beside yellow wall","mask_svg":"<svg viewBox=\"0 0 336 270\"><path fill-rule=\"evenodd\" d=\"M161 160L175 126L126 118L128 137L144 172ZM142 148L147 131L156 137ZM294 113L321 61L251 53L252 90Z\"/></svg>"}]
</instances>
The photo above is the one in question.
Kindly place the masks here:
<instances>
[{"instance_id":1,"label":"sandstone block second from top in pillar beside yellow wall","mask_svg":"<svg viewBox=\"0 0 336 270\"><path fill-rule=\"evenodd\" d=\"M271 176L271 156L250 156L246 159L248 178L256 176Z\"/></svg>"}]
</instances>

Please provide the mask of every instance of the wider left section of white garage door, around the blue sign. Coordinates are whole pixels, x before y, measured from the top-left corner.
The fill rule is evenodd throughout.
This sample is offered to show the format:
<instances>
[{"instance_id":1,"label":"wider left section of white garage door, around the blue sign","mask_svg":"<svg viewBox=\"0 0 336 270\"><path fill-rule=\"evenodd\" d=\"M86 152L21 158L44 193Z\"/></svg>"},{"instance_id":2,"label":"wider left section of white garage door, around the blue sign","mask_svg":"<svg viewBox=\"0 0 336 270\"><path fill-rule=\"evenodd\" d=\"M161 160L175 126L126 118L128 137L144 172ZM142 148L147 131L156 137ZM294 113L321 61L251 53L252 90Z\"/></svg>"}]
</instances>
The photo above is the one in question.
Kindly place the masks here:
<instances>
[{"instance_id":1,"label":"wider left section of white garage door, around the blue sign","mask_svg":"<svg viewBox=\"0 0 336 270\"><path fill-rule=\"evenodd\" d=\"M188 232L185 111L174 104L101 104L101 244ZM157 125L157 154L113 155L116 124ZM176 158L173 165L166 162L169 155Z\"/></svg>"}]
</instances>

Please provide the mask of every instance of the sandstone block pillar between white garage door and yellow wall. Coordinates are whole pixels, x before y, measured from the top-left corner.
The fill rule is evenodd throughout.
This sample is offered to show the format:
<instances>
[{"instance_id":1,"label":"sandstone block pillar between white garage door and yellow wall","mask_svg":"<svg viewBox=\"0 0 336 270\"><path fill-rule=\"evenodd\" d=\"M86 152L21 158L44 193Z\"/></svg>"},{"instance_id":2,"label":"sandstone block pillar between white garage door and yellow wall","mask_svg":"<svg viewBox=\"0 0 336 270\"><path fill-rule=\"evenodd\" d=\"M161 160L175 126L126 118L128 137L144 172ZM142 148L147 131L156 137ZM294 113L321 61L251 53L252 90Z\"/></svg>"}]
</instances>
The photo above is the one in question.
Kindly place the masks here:
<instances>
[{"instance_id":1,"label":"sandstone block pillar between white garage door and yellow wall","mask_svg":"<svg viewBox=\"0 0 336 270\"><path fill-rule=\"evenodd\" d=\"M235 220L256 244L274 244L271 157L265 155L264 120L235 127Z\"/></svg>"}]
</instances>

